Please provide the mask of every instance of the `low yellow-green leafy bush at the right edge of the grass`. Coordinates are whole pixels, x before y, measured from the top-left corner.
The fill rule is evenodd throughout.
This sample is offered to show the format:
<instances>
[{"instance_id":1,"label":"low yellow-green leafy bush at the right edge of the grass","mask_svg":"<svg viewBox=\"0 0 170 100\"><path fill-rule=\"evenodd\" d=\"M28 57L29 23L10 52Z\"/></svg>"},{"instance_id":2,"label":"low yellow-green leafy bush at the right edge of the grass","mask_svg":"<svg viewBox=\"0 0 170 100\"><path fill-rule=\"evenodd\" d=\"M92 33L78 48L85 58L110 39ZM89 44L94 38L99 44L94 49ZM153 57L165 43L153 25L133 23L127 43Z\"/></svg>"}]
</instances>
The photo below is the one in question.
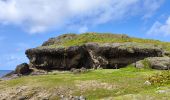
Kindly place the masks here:
<instances>
[{"instance_id":1,"label":"low yellow-green leafy bush at the right edge of the grass","mask_svg":"<svg viewBox=\"0 0 170 100\"><path fill-rule=\"evenodd\" d=\"M170 71L156 73L148 78L153 85L165 85L170 83Z\"/></svg>"}]
</instances>

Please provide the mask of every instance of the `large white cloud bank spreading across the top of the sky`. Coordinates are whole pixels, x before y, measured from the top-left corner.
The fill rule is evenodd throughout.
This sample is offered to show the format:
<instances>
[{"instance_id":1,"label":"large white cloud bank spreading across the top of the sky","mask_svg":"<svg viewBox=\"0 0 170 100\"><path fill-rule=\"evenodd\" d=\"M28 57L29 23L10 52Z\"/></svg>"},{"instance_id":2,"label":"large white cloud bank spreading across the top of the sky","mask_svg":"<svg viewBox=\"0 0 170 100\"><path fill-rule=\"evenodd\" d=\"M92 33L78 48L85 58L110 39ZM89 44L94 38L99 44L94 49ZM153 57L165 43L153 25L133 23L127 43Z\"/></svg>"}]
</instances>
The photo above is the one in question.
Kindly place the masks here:
<instances>
[{"instance_id":1,"label":"large white cloud bank spreading across the top of the sky","mask_svg":"<svg viewBox=\"0 0 170 100\"><path fill-rule=\"evenodd\" d=\"M30 33L91 26L140 14L151 16L164 0L1 0L0 23Z\"/></svg>"}]
</instances>

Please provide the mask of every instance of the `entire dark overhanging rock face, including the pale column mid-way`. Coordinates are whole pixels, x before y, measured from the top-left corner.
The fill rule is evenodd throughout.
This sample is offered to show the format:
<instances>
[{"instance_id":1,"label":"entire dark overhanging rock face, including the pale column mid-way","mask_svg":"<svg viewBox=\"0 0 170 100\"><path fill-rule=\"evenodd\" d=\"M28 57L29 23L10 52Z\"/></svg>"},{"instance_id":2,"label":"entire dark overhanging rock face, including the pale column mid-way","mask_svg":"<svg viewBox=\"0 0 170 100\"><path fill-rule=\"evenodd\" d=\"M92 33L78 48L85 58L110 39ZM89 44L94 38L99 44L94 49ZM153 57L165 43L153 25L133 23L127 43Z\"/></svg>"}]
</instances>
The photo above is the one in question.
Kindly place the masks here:
<instances>
[{"instance_id":1,"label":"entire dark overhanging rock face, including the pale column mid-way","mask_svg":"<svg viewBox=\"0 0 170 100\"><path fill-rule=\"evenodd\" d=\"M33 67L44 70L71 68L120 68L147 57L161 57L163 50L151 44L87 43L68 48L42 46L29 49L26 55Z\"/></svg>"}]
</instances>

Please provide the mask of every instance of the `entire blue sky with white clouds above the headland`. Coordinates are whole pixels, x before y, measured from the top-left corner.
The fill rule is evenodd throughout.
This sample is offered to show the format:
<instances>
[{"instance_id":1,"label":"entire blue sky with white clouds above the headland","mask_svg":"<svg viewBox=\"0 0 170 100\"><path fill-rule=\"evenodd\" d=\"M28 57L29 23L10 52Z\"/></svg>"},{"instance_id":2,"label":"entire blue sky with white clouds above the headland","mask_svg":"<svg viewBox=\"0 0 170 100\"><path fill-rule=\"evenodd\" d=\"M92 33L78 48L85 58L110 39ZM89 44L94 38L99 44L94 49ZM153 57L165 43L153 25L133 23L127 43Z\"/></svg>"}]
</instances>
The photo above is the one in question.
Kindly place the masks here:
<instances>
[{"instance_id":1,"label":"entire blue sky with white clouds above the headland","mask_svg":"<svg viewBox=\"0 0 170 100\"><path fill-rule=\"evenodd\" d=\"M63 33L110 32L170 41L170 0L0 0L0 70Z\"/></svg>"}]
</instances>

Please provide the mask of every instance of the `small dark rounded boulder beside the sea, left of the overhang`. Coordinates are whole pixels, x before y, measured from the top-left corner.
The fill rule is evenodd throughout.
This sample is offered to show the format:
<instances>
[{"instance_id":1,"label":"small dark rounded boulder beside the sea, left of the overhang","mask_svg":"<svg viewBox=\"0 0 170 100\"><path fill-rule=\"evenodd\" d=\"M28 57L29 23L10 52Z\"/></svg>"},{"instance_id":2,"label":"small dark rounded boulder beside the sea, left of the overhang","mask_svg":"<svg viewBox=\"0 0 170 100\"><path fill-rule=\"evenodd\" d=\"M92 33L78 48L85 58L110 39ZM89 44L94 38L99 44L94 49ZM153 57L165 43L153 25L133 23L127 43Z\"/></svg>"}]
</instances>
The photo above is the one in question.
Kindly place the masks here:
<instances>
[{"instance_id":1,"label":"small dark rounded boulder beside the sea, left of the overhang","mask_svg":"<svg viewBox=\"0 0 170 100\"><path fill-rule=\"evenodd\" d=\"M15 69L15 74L18 75L27 75L30 74L32 70L29 68L29 65L27 63L22 63L18 65Z\"/></svg>"}]
</instances>

